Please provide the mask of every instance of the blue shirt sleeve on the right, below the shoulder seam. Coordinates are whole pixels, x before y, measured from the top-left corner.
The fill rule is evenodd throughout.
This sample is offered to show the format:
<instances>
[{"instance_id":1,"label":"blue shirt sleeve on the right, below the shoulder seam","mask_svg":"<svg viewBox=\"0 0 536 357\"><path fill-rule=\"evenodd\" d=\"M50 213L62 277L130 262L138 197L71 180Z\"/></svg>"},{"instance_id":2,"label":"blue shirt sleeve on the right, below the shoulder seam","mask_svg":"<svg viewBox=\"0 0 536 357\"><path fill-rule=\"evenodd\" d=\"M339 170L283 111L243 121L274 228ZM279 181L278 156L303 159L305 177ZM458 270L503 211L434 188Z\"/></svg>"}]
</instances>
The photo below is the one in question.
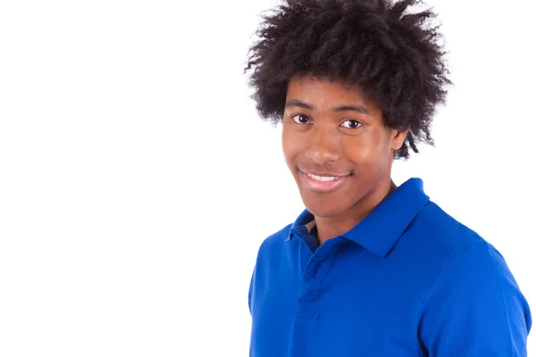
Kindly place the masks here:
<instances>
[{"instance_id":1,"label":"blue shirt sleeve on the right, below the shoulder seam","mask_svg":"<svg viewBox=\"0 0 536 357\"><path fill-rule=\"evenodd\" d=\"M430 357L527 355L529 305L507 262L486 242L450 259L420 313L419 339Z\"/></svg>"}]
</instances>

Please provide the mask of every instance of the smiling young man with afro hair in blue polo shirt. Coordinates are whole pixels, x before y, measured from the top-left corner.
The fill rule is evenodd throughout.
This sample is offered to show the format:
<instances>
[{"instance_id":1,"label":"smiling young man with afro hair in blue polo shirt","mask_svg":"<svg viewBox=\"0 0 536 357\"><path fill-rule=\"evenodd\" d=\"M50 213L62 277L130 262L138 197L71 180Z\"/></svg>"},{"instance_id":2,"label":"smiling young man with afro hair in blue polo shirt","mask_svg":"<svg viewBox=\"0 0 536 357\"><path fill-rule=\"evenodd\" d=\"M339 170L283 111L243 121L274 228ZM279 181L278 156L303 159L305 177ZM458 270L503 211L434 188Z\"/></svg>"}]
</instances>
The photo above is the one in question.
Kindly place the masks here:
<instances>
[{"instance_id":1,"label":"smiling young man with afro hair in blue polo shirt","mask_svg":"<svg viewBox=\"0 0 536 357\"><path fill-rule=\"evenodd\" d=\"M526 356L531 312L500 253L421 179L390 178L432 143L450 84L416 3L287 0L264 16L250 84L306 210L259 249L250 356Z\"/></svg>"}]
</instances>

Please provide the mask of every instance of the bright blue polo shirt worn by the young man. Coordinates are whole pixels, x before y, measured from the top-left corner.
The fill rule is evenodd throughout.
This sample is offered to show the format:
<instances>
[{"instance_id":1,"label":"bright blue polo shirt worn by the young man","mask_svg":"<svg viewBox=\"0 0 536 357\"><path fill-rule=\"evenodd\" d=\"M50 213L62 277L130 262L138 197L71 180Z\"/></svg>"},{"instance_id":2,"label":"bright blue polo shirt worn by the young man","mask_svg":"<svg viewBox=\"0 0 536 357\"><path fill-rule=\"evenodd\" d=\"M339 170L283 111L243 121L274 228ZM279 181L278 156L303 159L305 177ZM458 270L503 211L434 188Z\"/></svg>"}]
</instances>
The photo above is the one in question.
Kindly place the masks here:
<instances>
[{"instance_id":1,"label":"bright blue polo shirt worn by the young man","mask_svg":"<svg viewBox=\"0 0 536 357\"><path fill-rule=\"evenodd\" d=\"M264 240L251 357L526 356L529 306L500 253L409 179L317 246L314 216Z\"/></svg>"}]
</instances>

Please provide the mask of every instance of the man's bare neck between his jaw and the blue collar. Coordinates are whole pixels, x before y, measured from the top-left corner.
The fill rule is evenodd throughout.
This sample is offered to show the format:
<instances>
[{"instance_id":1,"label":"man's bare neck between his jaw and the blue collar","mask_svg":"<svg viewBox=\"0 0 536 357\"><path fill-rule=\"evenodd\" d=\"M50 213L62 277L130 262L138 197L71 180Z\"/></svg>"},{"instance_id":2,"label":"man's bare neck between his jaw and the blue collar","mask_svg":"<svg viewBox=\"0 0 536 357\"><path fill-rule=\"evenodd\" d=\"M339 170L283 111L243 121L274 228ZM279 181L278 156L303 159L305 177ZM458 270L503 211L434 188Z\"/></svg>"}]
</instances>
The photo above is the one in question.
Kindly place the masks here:
<instances>
[{"instance_id":1,"label":"man's bare neck between his jaw and the blue collar","mask_svg":"<svg viewBox=\"0 0 536 357\"><path fill-rule=\"evenodd\" d=\"M322 245L326 240L340 236L354 228L395 189L397 186L392 179L389 179L386 183L374 187L347 212L333 217L314 217L319 243Z\"/></svg>"}]
</instances>

